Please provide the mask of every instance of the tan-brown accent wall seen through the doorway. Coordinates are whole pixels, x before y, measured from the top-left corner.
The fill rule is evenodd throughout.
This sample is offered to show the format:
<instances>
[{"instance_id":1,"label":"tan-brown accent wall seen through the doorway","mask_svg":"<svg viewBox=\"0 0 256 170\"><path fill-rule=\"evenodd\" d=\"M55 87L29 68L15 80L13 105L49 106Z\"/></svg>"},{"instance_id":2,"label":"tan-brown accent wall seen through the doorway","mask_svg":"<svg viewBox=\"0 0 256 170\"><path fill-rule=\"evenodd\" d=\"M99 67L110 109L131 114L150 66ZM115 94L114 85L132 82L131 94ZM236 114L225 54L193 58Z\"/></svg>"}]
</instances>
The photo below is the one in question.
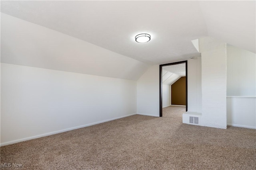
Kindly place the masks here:
<instances>
[{"instance_id":1,"label":"tan-brown accent wall seen through the doorway","mask_svg":"<svg viewBox=\"0 0 256 170\"><path fill-rule=\"evenodd\" d=\"M186 105L186 77L172 84L172 105Z\"/></svg>"}]
</instances>

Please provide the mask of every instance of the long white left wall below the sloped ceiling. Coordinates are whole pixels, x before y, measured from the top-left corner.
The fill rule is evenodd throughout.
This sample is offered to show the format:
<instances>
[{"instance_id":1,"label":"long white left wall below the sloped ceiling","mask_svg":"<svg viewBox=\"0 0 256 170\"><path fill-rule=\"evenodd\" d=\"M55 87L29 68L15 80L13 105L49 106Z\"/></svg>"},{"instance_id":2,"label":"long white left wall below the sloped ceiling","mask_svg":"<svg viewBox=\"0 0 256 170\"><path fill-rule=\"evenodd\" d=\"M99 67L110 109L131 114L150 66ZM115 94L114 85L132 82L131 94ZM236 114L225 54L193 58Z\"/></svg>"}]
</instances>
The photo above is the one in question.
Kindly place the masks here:
<instances>
[{"instance_id":1,"label":"long white left wall below the sloped ceiling","mask_svg":"<svg viewBox=\"0 0 256 170\"><path fill-rule=\"evenodd\" d=\"M134 113L134 80L1 63L1 145Z\"/></svg>"}]
</instances>

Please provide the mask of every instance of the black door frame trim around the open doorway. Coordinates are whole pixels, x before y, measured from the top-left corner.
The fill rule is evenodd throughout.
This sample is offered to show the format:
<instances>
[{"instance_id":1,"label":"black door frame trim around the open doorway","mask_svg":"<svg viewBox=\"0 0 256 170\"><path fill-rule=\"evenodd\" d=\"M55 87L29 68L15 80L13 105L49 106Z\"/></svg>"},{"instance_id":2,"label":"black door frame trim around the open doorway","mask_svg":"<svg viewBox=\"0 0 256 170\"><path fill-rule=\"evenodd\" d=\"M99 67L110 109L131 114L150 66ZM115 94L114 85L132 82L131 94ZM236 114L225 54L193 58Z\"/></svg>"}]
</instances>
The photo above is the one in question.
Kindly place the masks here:
<instances>
[{"instance_id":1,"label":"black door frame trim around the open doorway","mask_svg":"<svg viewBox=\"0 0 256 170\"><path fill-rule=\"evenodd\" d=\"M188 111L188 61L178 61L175 63L167 63L167 64L160 64L159 65L159 84L160 84L160 92L159 92L159 97L160 97L160 112L159 112L159 117L162 117L163 115L163 83L162 83L162 67L163 66L170 66L170 65L175 65L175 64L182 64L182 63L186 63L186 111Z\"/></svg>"}]
</instances>

